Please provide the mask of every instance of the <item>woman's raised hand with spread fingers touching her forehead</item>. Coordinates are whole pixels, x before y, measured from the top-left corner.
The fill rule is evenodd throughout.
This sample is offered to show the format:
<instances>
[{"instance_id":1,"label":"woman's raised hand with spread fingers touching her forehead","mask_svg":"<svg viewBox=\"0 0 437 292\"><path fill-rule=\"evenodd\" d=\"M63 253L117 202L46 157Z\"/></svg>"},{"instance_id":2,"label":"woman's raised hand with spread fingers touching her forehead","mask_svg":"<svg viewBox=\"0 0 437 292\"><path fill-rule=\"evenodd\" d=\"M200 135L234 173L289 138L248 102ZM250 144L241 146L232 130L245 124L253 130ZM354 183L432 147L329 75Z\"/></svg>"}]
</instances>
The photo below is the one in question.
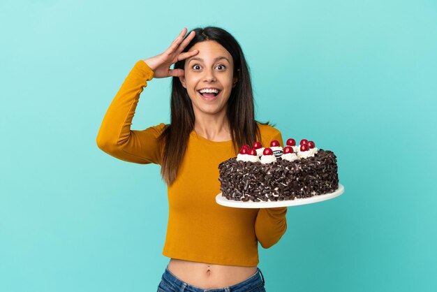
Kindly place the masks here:
<instances>
[{"instance_id":1,"label":"woman's raised hand with spread fingers touching her forehead","mask_svg":"<svg viewBox=\"0 0 437 292\"><path fill-rule=\"evenodd\" d=\"M177 61L193 57L199 52L198 50L193 50L191 52L182 52L195 36L195 31L191 31L191 33L188 34L188 36L184 40L186 31L187 29L184 27L179 36L177 36L175 41L173 41L173 43L167 50L165 50L165 52L163 52L162 54L158 54L155 57L144 60L146 64L151 68L151 70L154 71L155 78L184 76L184 69L170 69L170 66L172 66L172 64L175 64Z\"/></svg>"}]
</instances>

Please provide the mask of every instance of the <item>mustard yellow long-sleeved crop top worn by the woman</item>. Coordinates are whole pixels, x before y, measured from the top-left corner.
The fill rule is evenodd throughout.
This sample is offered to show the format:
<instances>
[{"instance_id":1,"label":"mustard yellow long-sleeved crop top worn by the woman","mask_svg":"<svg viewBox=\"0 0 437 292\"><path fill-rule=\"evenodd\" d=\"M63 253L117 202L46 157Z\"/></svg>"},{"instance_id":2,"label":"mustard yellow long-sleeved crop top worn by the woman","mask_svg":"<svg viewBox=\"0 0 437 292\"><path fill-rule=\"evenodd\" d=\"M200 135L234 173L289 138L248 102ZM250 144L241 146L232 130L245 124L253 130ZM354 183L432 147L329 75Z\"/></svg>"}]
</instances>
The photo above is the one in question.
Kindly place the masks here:
<instances>
[{"instance_id":1,"label":"mustard yellow long-sleeved crop top worn by the woman","mask_svg":"<svg viewBox=\"0 0 437 292\"><path fill-rule=\"evenodd\" d=\"M154 77L145 61L138 61L114 97L98 131L104 152L133 163L161 163L157 138L165 124L131 130L143 87ZM279 140L272 126L260 126L262 145ZM163 255L186 261L256 266L258 241L265 249L286 232L287 207L242 209L216 203L221 192L218 164L237 156L232 141L214 142L191 132L177 180L168 187L168 228Z\"/></svg>"}]
</instances>

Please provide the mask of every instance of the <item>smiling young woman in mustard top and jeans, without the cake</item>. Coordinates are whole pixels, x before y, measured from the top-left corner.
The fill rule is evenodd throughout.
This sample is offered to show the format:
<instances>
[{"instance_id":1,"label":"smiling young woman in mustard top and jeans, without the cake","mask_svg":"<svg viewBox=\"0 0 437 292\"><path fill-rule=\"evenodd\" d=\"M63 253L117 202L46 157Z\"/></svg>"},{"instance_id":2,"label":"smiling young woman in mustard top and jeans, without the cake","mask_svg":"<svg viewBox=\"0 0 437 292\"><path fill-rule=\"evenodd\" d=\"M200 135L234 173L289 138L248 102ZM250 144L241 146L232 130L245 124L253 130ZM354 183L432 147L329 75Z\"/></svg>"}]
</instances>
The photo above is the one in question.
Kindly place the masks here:
<instances>
[{"instance_id":1,"label":"smiling young woman in mustard top and jeans, without the cake","mask_svg":"<svg viewBox=\"0 0 437 292\"><path fill-rule=\"evenodd\" d=\"M162 54L135 64L106 112L97 145L124 161L161 165L169 202L163 255L170 262L158 291L265 291L258 242L269 248L279 241L287 208L218 205L218 164L244 144L283 145L281 133L255 121L249 68L235 38L218 27L186 32ZM131 130L147 81L167 77L170 124ZM156 102L148 98L146 108Z\"/></svg>"}]
</instances>

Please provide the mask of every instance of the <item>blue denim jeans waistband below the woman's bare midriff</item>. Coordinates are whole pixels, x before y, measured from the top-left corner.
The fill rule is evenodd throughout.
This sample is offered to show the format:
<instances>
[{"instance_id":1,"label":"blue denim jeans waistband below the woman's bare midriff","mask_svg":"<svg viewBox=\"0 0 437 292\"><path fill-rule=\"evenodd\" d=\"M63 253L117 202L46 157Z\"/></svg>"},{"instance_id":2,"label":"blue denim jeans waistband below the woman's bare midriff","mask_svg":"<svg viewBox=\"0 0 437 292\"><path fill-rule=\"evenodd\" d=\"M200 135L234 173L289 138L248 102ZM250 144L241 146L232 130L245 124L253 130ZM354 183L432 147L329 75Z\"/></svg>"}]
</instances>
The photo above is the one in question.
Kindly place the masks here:
<instances>
[{"instance_id":1,"label":"blue denim jeans waistband below the woman's bare midriff","mask_svg":"<svg viewBox=\"0 0 437 292\"><path fill-rule=\"evenodd\" d=\"M265 292L264 288L264 276L259 268L254 275L245 279L243 282L239 282L235 285L228 286L220 289L202 289L200 287L192 286L177 278L175 275L165 268L161 283L158 286L158 292Z\"/></svg>"}]
</instances>

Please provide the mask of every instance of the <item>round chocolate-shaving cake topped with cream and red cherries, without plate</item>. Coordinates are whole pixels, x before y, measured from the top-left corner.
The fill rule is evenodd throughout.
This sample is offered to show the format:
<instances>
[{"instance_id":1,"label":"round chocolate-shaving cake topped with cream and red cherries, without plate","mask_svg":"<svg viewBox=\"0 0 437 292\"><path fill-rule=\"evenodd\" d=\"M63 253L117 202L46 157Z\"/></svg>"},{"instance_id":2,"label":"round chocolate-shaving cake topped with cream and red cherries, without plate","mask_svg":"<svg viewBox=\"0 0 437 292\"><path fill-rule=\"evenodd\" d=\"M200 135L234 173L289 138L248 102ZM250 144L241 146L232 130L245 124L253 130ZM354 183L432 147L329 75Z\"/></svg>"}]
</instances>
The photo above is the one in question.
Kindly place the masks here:
<instances>
[{"instance_id":1,"label":"round chocolate-shaving cake topped with cream and red cherries, without plate","mask_svg":"<svg viewBox=\"0 0 437 292\"><path fill-rule=\"evenodd\" d=\"M222 196L247 202L294 200L331 193L339 188L334 152L302 139L244 145L237 157L218 165Z\"/></svg>"}]
</instances>

